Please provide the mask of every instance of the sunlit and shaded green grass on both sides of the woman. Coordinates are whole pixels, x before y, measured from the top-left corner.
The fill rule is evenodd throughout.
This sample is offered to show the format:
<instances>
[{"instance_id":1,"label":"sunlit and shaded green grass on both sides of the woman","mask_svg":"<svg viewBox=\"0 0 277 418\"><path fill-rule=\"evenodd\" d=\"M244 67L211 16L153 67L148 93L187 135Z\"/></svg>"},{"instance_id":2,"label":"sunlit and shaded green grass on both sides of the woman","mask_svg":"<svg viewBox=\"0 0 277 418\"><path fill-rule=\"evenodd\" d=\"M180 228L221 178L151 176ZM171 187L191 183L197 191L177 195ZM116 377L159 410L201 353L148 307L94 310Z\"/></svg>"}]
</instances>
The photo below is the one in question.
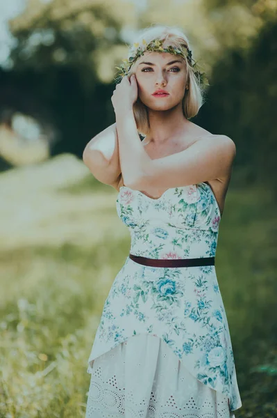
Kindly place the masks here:
<instances>
[{"instance_id":1,"label":"sunlit and shaded green grass on both sides of the woman","mask_svg":"<svg viewBox=\"0 0 277 418\"><path fill-rule=\"evenodd\" d=\"M84 417L87 358L130 249L117 192L62 155L2 173L0 193L0 417ZM243 403L236 418L277 416L276 231L268 190L229 190L216 269Z\"/></svg>"}]
</instances>

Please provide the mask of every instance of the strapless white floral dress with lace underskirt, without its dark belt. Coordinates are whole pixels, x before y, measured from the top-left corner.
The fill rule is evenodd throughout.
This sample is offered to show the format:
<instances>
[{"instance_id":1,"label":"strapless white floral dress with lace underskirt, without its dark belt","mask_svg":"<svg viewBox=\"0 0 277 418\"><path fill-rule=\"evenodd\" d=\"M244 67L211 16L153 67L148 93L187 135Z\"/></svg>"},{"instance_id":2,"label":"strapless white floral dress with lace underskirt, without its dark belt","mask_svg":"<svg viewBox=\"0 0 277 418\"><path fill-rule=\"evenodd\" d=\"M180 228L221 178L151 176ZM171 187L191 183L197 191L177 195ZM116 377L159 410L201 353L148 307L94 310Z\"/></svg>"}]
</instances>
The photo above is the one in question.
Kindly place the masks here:
<instances>
[{"instance_id":1,"label":"strapless white floral dress with lace underskirt, without its dark belt","mask_svg":"<svg viewBox=\"0 0 277 418\"><path fill-rule=\"evenodd\" d=\"M123 186L131 254L215 256L219 207L207 183L159 199ZM242 406L215 265L150 267L127 257L96 330L85 418L234 418Z\"/></svg>"}]
</instances>

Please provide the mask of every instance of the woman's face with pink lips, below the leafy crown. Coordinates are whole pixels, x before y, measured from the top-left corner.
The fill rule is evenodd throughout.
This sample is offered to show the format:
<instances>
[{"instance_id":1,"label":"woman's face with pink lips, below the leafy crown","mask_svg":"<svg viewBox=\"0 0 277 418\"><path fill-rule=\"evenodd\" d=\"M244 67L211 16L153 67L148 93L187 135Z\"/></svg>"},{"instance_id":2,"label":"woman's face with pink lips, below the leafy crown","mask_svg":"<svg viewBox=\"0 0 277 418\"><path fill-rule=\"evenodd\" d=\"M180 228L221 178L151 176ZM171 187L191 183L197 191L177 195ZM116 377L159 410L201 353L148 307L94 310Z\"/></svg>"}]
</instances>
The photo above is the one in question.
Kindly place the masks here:
<instances>
[{"instance_id":1,"label":"woman's face with pink lips, below the leafy crown","mask_svg":"<svg viewBox=\"0 0 277 418\"><path fill-rule=\"evenodd\" d=\"M185 62L178 54L147 52L138 61L135 77L138 97L150 109L171 109L183 100L187 70ZM169 95L153 95L159 88L167 91Z\"/></svg>"}]
</instances>

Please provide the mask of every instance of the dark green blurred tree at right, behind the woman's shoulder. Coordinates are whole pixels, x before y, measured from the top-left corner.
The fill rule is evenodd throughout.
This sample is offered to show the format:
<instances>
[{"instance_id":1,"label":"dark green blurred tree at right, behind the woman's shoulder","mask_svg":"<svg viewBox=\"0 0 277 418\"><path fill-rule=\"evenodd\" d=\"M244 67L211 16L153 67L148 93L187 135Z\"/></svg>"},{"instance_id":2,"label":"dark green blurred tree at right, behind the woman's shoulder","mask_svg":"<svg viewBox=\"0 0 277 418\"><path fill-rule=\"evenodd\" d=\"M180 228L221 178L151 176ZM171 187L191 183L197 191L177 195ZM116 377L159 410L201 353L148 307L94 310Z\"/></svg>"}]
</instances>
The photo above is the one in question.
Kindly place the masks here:
<instances>
[{"instance_id":1,"label":"dark green blurred tree at right, behind the woman's shoulder","mask_svg":"<svg viewBox=\"0 0 277 418\"><path fill-rule=\"evenodd\" d=\"M277 198L277 21L269 21L249 49L226 50L215 65L200 121L237 145L237 185L260 183ZM202 110L202 109L201 109Z\"/></svg>"}]
</instances>

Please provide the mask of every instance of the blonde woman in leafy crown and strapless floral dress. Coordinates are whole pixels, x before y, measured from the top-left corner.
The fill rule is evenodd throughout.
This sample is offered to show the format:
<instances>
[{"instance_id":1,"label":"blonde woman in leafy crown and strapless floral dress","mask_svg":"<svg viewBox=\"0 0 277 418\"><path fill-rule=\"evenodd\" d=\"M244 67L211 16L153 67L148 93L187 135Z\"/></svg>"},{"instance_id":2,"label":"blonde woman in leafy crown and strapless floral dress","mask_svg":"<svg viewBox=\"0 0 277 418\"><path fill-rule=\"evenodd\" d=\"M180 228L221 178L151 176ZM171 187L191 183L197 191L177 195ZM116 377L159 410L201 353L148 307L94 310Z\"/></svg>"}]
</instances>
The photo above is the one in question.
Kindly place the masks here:
<instances>
[{"instance_id":1,"label":"blonde woman in leafy crown and strapless floral dress","mask_svg":"<svg viewBox=\"0 0 277 418\"><path fill-rule=\"evenodd\" d=\"M86 418L235 417L242 403L215 271L235 144L190 122L206 77L181 29L142 30L119 69L116 122L83 160L119 192L131 251L88 359Z\"/></svg>"}]
</instances>

